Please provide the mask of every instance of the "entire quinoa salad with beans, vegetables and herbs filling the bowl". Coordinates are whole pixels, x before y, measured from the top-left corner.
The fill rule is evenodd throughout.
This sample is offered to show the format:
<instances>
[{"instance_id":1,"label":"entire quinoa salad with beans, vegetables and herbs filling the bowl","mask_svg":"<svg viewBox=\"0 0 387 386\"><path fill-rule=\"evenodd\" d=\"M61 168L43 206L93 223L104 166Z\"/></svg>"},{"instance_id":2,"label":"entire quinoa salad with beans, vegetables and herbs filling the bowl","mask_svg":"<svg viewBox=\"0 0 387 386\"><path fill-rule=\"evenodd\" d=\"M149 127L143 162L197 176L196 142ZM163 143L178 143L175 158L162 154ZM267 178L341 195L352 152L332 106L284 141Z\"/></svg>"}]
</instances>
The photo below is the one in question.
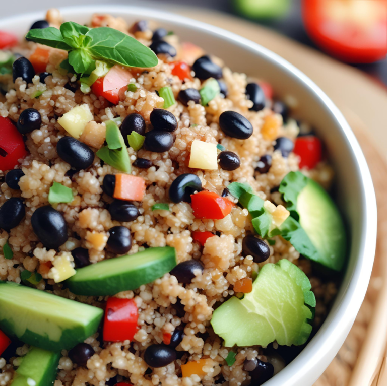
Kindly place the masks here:
<instances>
[{"instance_id":1,"label":"entire quinoa salad with beans, vegetables and herbs filling the bowl","mask_svg":"<svg viewBox=\"0 0 387 386\"><path fill-rule=\"evenodd\" d=\"M297 101L146 20L25 30L0 31L0 386L265 383L347 255Z\"/></svg>"}]
</instances>

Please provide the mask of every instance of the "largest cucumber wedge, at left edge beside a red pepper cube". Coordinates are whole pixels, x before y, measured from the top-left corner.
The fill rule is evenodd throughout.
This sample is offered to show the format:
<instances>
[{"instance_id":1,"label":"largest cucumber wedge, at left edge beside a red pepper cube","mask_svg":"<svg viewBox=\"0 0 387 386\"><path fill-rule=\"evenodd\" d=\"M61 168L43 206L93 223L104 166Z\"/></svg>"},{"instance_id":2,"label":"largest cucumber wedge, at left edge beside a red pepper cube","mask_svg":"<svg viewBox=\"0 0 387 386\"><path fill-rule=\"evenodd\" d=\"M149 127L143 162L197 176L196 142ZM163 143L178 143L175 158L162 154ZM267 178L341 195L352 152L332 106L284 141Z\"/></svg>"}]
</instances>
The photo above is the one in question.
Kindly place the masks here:
<instances>
[{"instance_id":1,"label":"largest cucumber wedge, at left edge beside a red pepper cube","mask_svg":"<svg viewBox=\"0 0 387 386\"><path fill-rule=\"evenodd\" d=\"M103 310L13 282L0 282L0 329L45 350L69 350L97 332Z\"/></svg>"}]
</instances>

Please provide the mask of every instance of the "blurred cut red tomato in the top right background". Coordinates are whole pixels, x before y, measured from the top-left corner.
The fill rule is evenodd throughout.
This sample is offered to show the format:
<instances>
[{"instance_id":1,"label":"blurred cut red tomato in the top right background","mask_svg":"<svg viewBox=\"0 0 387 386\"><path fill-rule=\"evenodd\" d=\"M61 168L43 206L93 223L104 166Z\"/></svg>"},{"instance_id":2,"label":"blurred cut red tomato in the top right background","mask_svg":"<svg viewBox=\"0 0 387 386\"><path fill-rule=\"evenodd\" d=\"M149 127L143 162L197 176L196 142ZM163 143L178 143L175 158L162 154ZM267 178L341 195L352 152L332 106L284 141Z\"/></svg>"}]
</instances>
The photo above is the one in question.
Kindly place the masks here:
<instances>
[{"instance_id":1,"label":"blurred cut red tomato in the top right background","mask_svg":"<svg viewBox=\"0 0 387 386\"><path fill-rule=\"evenodd\" d=\"M387 54L387 0L303 0L309 36L333 56L370 63Z\"/></svg>"}]
</instances>

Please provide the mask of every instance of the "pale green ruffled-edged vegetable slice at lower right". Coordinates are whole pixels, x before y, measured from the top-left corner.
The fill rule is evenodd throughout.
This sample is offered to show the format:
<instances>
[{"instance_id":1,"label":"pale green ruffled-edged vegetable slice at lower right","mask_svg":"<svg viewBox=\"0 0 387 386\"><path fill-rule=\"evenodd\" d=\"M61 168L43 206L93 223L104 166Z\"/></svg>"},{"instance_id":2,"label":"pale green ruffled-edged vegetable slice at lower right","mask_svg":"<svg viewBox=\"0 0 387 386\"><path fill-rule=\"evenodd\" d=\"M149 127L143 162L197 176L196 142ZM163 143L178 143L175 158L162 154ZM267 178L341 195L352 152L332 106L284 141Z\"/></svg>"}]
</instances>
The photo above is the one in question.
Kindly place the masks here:
<instances>
[{"instance_id":1,"label":"pale green ruffled-edged vegetable slice at lower right","mask_svg":"<svg viewBox=\"0 0 387 386\"><path fill-rule=\"evenodd\" d=\"M267 347L274 341L302 345L312 331L309 321L316 305L310 288L306 275L288 260L265 264L252 291L242 300L233 296L224 302L214 311L211 325L226 347Z\"/></svg>"}]
</instances>

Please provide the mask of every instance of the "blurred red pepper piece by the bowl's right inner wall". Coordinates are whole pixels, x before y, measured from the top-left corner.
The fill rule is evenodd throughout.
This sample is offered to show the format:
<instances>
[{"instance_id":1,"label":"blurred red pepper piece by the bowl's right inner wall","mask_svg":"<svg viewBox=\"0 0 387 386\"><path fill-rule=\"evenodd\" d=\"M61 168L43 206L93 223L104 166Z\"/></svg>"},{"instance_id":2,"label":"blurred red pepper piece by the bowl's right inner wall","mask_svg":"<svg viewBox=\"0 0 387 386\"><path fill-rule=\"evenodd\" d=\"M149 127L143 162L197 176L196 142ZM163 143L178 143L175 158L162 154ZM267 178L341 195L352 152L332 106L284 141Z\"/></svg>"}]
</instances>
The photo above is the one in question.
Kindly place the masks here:
<instances>
[{"instance_id":1,"label":"blurred red pepper piece by the bowl's right inner wall","mask_svg":"<svg viewBox=\"0 0 387 386\"><path fill-rule=\"evenodd\" d=\"M298 137L293 152L301 158L300 169L313 169L322 158L321 141L315 136Z\"/></svg>"}]
</instances>

